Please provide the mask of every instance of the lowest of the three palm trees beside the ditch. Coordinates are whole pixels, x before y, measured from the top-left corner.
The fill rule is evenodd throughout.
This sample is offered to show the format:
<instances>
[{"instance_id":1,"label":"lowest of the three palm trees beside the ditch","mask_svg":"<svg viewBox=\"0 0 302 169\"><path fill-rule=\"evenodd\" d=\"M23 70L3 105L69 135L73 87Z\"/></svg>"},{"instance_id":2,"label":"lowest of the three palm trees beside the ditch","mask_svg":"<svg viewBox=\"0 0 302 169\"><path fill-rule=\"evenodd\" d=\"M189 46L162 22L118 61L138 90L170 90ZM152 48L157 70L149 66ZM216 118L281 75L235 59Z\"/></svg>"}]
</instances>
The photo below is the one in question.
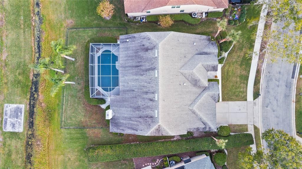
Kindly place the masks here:
<instances>
[{"instance_id":1,"label":"lowest of the three palm trees beside the ditch","mask_svg":"<svg viewBox=\"0 0 302 169\"><path fill-rule=\"evenodd\" d=\"M54 75L53 77L49 77L48 79L53 82L53 87L50 89L50 95L54 97L54 95L59 91L60 87L65 86L65 84L76 84L72 81L66 81L69 77L69 74L65 75Z\"/></svg>"}]
</instances>

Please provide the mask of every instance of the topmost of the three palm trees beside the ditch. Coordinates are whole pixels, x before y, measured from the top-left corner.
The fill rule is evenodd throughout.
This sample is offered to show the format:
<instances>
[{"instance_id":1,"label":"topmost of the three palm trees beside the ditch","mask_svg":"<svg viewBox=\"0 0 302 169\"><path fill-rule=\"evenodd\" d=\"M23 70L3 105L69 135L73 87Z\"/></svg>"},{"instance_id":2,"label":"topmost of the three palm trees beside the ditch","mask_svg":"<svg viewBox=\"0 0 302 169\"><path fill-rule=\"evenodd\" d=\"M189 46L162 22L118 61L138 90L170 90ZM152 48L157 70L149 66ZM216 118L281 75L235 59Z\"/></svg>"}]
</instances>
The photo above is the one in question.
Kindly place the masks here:
<instances>
[{"instance_id":1,"label":"topmost of the three palm trees beside the ditch","mask_svg":"<svg viewBox=\"0 0 302 169\"><path fill-rule=\"evenodd\" d=\"M51 41L50 46L56 51L60 56L65 57L70 60L75 60L72 57L68 57L66 55L72 54L72 51L76 49L75 45L64 46L63 39L58 39L56 41Z\"/></svg>"}]
</instances>

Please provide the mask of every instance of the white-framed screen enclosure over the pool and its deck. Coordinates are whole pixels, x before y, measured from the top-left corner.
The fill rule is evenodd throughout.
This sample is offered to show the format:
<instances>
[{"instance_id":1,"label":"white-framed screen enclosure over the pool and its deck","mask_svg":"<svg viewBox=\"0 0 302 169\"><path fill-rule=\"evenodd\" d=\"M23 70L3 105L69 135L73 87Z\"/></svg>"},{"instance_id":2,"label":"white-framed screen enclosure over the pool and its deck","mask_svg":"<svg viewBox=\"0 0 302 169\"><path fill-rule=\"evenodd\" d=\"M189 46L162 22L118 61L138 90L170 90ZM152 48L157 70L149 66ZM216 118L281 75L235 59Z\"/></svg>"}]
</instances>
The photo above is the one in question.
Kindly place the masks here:
<instances>
[{"instance_id":1,"label":"white-framed screen enclosure over the pool and its deck","mask_svg":"<svg viewBox=\"0 0 302 169\"><path fill-rule=\"evenodd\" d=\"M120 95L120 44L91 43L89 50L90 97Z\"/></svg>"}]
</instances>

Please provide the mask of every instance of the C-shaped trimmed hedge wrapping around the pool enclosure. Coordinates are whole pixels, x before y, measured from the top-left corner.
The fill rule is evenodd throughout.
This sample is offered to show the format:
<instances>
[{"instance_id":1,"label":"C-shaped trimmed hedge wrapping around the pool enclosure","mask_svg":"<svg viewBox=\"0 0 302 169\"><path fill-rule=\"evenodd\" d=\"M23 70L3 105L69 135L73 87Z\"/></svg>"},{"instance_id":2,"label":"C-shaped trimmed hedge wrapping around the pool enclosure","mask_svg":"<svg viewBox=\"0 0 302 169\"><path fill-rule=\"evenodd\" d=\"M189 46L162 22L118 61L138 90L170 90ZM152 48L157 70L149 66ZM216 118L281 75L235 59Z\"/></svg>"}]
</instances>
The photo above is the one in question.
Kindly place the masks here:
<instances>
[{"instance_id":1,"label":"C-shaped trimmed hedge wrapping around the pool enclosure","mask_svg":"<svg viewBox=\"0 0 302 169\"><path fill-rule=\"evenodd\" d=\"M89 47L90 43L116 43L117 38L115 37L97 37L91 38L86 42L85 45L85 56L89 56ZM85 72L85 86L84 86L84 97L85 100L92 105L100 105L105 104L106 101L104 99L93 99L90 97L89 91L89 57L84 57L84 72Z\"/></svg>"}]
</instances>

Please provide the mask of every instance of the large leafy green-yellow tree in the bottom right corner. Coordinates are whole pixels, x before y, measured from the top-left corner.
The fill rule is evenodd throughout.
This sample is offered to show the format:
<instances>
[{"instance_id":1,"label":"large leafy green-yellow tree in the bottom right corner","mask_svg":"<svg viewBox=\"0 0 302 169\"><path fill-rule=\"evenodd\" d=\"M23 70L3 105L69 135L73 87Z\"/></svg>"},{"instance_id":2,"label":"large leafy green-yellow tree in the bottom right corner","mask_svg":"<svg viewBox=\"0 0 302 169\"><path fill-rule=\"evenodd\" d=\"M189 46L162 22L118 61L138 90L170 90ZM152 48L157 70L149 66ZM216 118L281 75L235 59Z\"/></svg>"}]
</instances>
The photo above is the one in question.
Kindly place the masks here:
<instances>
[{"instance_id":1,"label":"large leafy green-yellow tree in the bottom right corner","mask_svg":"<svg viewBox=\"0 0 302 169\"><path fill-rule=\"evenodd\" d=\"M241 168L296 169L302 167L302 146L299 141L282 130L268 129L262 134L266 149L251 152L251 148L239 153Z\"/></svg>"}]
</instances>

